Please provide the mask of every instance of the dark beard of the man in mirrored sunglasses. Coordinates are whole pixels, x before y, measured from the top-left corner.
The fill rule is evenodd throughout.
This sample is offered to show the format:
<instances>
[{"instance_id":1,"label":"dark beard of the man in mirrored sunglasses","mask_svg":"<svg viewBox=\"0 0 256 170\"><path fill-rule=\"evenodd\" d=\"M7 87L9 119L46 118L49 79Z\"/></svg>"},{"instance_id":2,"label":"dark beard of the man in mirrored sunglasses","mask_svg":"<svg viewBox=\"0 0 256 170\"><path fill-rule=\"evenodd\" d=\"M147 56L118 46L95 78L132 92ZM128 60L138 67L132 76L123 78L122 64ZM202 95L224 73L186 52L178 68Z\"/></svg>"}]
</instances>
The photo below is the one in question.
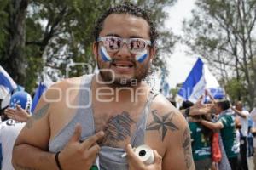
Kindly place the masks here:
<instances>
[{"instance_id":1,"label":"dark beard of the man in mirrored sunglasses","mask_svg":"<svg viewBox=\"0 0 256 170\"><path fill-rule=\"evenodd\" d=\"M99 65L99 62L97 62L98 68L99 68L99 73L102 77L102 80L104 82L112 82L108 83L109 86L113 87L135 87L137 86L138 83L142 82L146 77L149 75L149 65L145 65L146 67L143 67L141 70L142 71L136 71L135 75L133 77L115 77L113 71L106 71L106 68L104 69L105 71L101 71L101 66ZM110 63L108 69L110 70L112 63ZM134 65L136 68L137 66Z\"/></svg>"}]
</instances>

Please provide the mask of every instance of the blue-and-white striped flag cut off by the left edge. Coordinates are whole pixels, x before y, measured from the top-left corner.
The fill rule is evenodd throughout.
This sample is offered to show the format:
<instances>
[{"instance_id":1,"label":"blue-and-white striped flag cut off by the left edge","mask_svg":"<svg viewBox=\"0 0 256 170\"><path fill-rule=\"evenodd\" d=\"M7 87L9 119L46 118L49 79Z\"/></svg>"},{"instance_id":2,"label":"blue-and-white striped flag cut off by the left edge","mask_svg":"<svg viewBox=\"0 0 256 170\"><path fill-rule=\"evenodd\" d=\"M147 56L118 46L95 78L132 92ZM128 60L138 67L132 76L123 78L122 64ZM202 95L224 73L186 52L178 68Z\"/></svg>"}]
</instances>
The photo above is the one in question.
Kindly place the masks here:
<instances>
[{"instance_id":1,"label":"blue-and-white striped flag cut off by the left edge","mask_svg":"<svg viewBox=\"0 0 256 170\"><path fill-rule=\"evenodd\" d=\"M5 99L15 88L17 88L16 83L0 65L0 99Z\"/></svg>"}]
</instances>

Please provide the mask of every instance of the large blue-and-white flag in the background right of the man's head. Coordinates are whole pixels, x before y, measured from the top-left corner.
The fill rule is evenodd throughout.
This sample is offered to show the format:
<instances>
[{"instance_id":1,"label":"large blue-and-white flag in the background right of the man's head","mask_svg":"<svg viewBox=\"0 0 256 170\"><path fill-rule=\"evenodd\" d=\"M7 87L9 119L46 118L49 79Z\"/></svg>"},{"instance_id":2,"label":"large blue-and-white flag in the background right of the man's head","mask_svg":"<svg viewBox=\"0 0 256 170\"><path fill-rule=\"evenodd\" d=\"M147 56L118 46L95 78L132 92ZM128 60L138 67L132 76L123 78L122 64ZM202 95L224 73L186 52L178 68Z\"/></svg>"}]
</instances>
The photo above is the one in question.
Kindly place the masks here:
<instances>
[{"instance_id":1,"label":"large blue-and-white flag in the background right of the man's head","mask_svg":"<svg viewBox=\"0 0 256 170\"><path fill-rule=\"evenodd\" d=\"M224 91L219 87L217 79L213 77L207 65L198 58L177 95L183 100L195 103L204 94L206 89L215 99L216 97L218 99L224 97Z\"/></svg>"}]
</instances>

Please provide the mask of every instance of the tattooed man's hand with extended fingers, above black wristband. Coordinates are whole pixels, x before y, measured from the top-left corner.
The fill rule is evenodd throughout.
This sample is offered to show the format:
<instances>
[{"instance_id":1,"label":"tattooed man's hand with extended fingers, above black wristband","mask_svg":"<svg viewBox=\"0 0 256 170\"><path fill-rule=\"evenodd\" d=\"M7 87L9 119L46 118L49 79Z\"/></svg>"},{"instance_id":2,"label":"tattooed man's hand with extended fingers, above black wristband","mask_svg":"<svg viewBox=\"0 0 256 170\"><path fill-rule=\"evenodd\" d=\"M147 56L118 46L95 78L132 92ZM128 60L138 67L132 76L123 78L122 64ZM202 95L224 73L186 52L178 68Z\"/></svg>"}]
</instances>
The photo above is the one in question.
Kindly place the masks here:
<instances>
[{"instance_id":1,"label":"tattooed man's hand with extended fingers, above black wristband","mask_svg":"<svg viewBox=\"0 0 256 170\"><path fill-rule=\"evenodd\" d=\"M89 170L96 161L100 146L96 143L104 133L98 132L80 143L81 125L76 125L72 138L59 154L59 161L64 170Z\"/></svg>"}]
</instances>

